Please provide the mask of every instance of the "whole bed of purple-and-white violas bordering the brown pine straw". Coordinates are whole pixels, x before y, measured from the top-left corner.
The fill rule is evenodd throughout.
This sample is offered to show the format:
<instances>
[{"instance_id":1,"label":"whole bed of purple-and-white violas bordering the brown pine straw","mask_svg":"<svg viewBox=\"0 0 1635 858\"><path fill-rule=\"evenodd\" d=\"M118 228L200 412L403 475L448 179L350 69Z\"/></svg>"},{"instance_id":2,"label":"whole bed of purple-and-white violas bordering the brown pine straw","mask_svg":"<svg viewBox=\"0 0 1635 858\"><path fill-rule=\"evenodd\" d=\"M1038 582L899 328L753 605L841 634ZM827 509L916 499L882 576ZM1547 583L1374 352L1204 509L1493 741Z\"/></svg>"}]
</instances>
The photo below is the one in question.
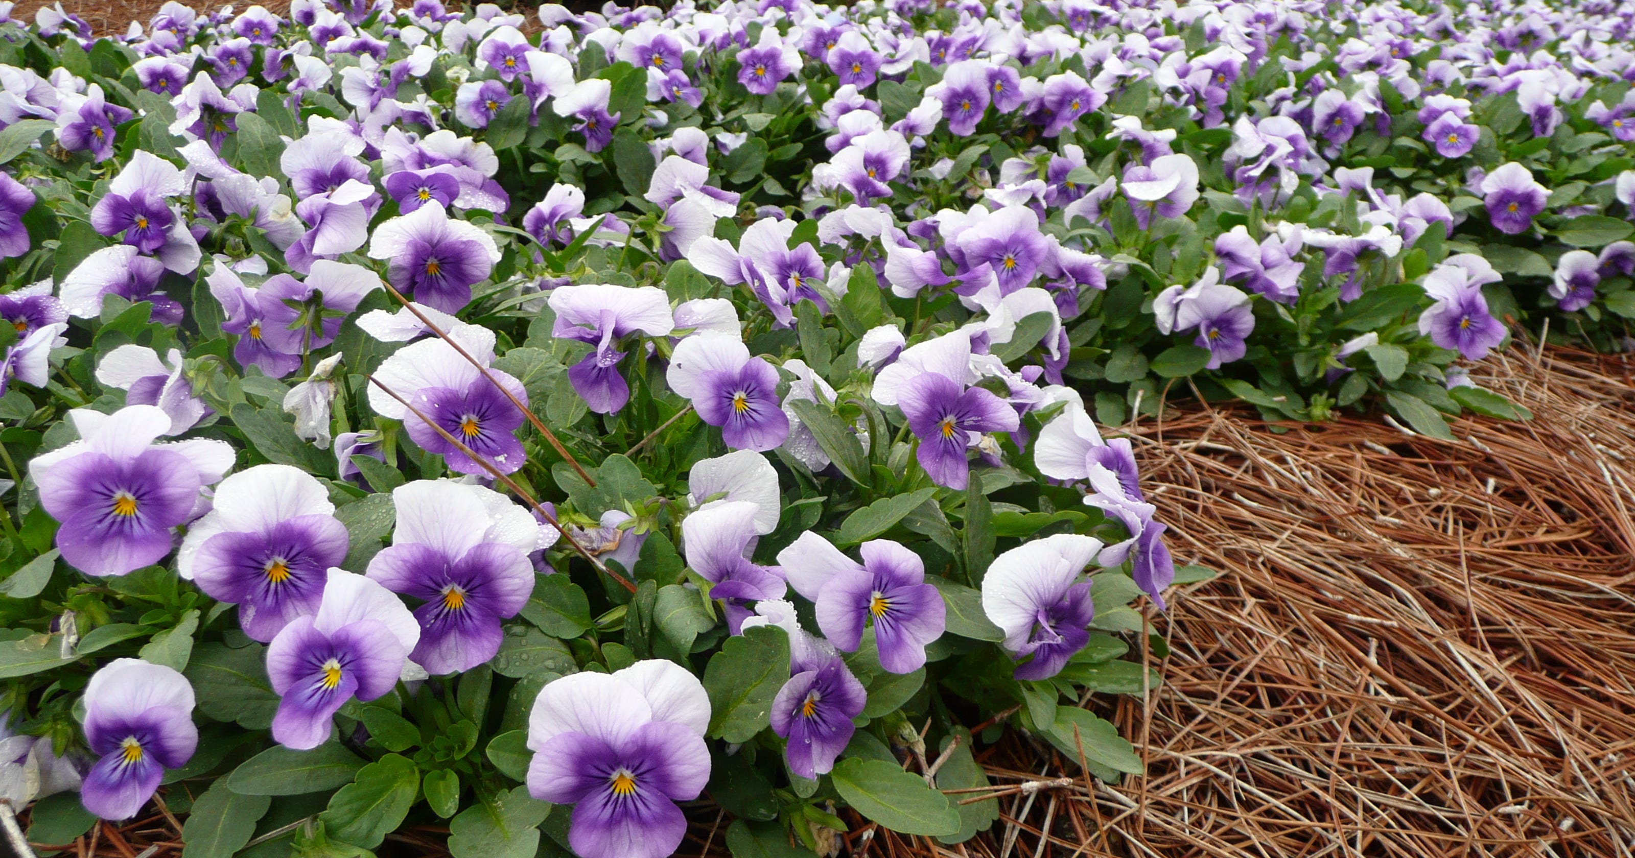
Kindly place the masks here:
<instances>
[{"instance_id":1,"label":"whole bed of purple-and-white violas bordering the brown pine straw","mask_svg":"<svg viewBox=\"0 0 1635 858\"><path fill-rule=\"evenodd\" d=\"M1501 319L1619 343L1602 7L5 25L5 798L755 855L966 842L1007 731L1140 773L1087 703L1210 572L1097 423L1452 438Z\"/></svg>"}]
</instances>

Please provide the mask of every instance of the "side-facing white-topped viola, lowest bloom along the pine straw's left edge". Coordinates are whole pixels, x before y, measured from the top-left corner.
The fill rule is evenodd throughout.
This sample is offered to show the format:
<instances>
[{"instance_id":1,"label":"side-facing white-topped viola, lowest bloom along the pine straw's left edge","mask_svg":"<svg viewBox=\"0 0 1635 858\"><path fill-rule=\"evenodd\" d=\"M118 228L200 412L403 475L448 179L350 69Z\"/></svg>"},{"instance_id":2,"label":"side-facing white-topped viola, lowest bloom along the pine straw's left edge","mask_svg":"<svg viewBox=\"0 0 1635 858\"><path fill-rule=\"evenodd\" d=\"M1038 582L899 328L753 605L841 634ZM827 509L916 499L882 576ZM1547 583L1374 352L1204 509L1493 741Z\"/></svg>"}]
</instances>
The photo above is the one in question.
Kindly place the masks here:
<instances>
[{"instance_id":1,"label":"side-facing white-topped viola, lowest bloom along the pine straw's left edge","mask_svg":"<svg viewBox=\"0 0 1635 858\"><path fill-rule=\"evenodd\" d=\"M1032 657L1015 678L1048 680L1091 642L1095 601L1082 572L1100 551L1100 539L1058 533L994 557L983 577L983 613L1006 632L1014 659Z\"/></svg>"}]
</instances>

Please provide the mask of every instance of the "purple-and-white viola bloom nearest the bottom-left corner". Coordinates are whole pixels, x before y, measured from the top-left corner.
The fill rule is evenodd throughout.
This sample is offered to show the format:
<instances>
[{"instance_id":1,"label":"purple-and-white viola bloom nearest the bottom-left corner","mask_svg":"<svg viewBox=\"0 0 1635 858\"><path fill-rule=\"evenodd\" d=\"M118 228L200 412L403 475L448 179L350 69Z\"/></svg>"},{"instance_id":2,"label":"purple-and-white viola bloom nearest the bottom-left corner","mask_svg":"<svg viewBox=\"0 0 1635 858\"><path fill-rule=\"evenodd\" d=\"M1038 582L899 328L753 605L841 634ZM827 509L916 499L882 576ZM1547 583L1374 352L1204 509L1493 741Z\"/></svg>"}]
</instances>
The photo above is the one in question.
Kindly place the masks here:
<instances>
[{"instance_id":1,"label":"purple-and-white viola bloom nearest the bottom-left corner","mask_svg":"<svg viewBox=\"0 0 1635 858\"><path fill-rule=\"evenodd\" d=\"M154 798L165 770L193 758L193 686L175 668L114 659L85 686L85 744L98 755L80 801L101 819L131 819Z\"/></svg>"}]
</instances>

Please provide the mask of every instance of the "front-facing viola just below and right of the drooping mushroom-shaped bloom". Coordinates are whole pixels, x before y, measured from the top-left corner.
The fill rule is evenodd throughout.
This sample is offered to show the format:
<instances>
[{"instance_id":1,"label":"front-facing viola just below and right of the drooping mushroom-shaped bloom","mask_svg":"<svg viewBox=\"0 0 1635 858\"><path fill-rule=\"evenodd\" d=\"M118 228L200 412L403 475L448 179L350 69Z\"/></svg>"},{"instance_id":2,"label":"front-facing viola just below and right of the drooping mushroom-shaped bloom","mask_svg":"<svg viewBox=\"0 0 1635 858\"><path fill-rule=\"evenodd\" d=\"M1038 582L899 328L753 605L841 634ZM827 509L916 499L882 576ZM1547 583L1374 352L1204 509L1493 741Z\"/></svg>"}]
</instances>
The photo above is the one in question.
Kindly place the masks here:
<instances>
[{"instance_id":1,"label":"front-facing viola just below and right of the drooping mushroom-shaped bloom","mask_svg":"<svg viewBox=\"0 0 1635 858\"><path fill-rule=\"evenodd\" d=\"M732 449L767 451L790 435L778 400L778 371L750 358L737 337L701 332L682 340L670 356L670 389L693 400L693 410Z\"/></svg>"}]
</instances>

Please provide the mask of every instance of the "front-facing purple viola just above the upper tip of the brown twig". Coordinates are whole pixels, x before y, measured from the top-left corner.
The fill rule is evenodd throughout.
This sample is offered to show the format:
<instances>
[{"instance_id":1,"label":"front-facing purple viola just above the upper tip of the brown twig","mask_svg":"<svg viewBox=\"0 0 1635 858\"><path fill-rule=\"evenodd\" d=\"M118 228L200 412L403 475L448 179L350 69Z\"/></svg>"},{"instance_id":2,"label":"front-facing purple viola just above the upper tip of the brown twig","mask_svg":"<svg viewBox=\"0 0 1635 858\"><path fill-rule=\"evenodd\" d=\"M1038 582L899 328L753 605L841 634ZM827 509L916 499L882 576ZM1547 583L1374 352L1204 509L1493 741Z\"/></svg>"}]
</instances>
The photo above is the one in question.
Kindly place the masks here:
<instances>
[{"instance_id":1,"label":"front-facing purple viola just above the upper tip of the brown twig","mask_svg":"<svg viewBox=\"0 0 1635 858\"><path fill-rule=\"evenodd\" d=\"M376 227L370 258L391 260L392 286L417 302L459 312L471 302L471 286L487 278L500 260L500 250L476 224L450 217L437 203L425 203Z\"/></svg>"}]
</instances>

